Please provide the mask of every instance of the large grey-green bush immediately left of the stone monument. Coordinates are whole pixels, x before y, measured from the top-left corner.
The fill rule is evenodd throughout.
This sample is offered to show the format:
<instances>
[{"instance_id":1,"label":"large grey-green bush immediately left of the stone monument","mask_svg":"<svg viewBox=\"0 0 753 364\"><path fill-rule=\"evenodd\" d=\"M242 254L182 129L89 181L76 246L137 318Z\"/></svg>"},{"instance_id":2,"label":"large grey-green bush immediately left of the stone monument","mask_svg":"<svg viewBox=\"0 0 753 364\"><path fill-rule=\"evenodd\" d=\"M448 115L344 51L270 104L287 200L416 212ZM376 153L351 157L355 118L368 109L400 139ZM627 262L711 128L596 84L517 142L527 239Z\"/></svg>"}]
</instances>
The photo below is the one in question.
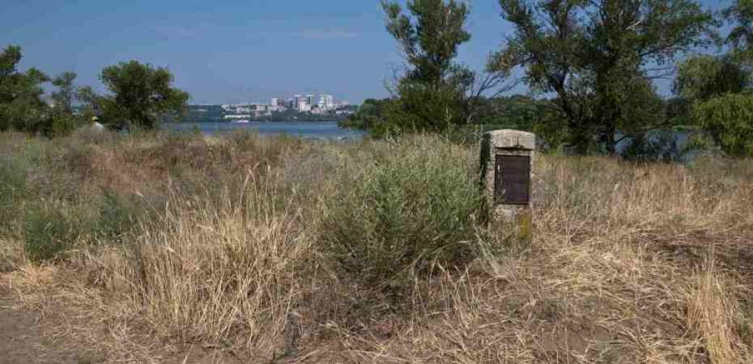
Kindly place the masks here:
<instances>
[{"instance_id":1,"label":"large grey-green bush immediately left of the stone monument","mask_svg":"<svg viewBox=\"0 0 753 364\"><path fill-rule=\"evenodd\" d=\"M343 157L325 197L322 240L340 271L377 287L468 262L481 197L472 154L420 137L372 153Z\"/></svg>"}]
</instances>

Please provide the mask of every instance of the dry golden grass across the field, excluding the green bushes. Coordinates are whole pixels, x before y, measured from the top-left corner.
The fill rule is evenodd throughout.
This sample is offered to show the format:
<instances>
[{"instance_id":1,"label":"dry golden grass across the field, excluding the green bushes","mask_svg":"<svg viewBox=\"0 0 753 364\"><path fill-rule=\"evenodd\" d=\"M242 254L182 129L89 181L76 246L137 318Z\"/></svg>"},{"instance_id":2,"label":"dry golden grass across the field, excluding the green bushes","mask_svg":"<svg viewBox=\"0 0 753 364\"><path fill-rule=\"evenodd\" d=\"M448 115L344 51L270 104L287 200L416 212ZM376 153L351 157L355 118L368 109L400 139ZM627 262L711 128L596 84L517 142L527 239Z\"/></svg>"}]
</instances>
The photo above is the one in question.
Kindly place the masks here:
<instances>
[{"instance_id":1,"label":"dry golden grass across the field, excluding the green bushes","mask_svg":"<svg viewBox=\"0 0 753 364\"><path fill-rule=\"evenodd\" d=\"M543 156L530 246L478 229L483 254L395 298L343 277L320 243L338 181L359 161L391 168L394 149L241 139L128 141L117 158L152 171L129 191L164 193L156 218L4 281L62 345L106 362L753 362L753 161ZM410 158L444 148L404 142ZM86 145L90 161L126 148ZM448 148L426 161L474 164ZM117 186L109 168L76 176Z\"/></svg>"}]
</instances>

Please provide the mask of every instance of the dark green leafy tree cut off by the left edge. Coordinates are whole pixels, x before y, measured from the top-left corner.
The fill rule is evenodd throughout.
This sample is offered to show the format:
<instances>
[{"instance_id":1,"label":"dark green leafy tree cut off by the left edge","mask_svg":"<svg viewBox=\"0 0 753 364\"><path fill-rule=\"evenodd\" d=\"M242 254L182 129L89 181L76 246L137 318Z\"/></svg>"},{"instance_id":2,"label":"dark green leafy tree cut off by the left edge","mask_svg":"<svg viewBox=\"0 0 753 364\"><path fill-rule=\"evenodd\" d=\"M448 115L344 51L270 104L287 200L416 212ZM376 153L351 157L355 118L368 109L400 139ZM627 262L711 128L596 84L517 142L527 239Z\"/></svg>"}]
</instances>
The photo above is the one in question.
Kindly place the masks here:
<instances>
[{"instance_id":1,"label":"dark green leafy tree cut off by the left edge","mask_svg":"<svg viewBox=\"0 0 753 364\"><path fill-rule=\"evenodd\" d=\"M18 72L22 58L17 46L0 52L0 130L35 131L47 113L41 85L49 78L34 68Z\"/></svg>"}]
</instances>

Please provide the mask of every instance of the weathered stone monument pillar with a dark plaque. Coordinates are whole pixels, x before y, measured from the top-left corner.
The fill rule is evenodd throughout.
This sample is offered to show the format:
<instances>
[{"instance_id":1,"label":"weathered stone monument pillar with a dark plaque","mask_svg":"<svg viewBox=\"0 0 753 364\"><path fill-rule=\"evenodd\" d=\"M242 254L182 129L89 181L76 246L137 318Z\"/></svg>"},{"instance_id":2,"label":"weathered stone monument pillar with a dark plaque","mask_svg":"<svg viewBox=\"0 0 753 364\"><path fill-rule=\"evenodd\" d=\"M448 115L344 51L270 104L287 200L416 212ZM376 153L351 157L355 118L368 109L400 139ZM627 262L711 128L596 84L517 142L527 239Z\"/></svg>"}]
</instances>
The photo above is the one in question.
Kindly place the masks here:
<instances>
[{"instance_id":1,"label":"weathered stone monument pillar with a dark plaque","mask_svg":"<svg viewBox=\"0 0 753 364\"><path fill-rule=\"evenodd\" d=\"M536 136L520 130L493 130L481 139L481 185L489 223L504 225L520 240L533 230L531 175Z\"/></svg>"}]
</instances>

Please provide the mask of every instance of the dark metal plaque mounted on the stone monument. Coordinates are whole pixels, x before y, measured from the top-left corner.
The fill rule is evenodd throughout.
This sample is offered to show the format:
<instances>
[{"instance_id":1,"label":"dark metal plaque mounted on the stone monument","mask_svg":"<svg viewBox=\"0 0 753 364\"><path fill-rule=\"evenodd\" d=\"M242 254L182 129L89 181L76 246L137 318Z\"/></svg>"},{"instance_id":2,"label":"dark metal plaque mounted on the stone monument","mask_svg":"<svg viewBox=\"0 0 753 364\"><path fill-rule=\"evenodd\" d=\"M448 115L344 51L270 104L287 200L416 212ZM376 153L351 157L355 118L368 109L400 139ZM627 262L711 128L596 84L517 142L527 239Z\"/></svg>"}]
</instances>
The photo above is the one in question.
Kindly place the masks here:
<instances>
[{"instance_id":1,"label":"dark metal plaque mounted on the stone monument","mask_svg":"<svg viewBox=\"0 0 753 364\"><path fill-rule=\"evenodd\" d=\"M494 201L527 205L531 191L531 157L497 154L494 173Z\"/></svg>"}]
</instances>

